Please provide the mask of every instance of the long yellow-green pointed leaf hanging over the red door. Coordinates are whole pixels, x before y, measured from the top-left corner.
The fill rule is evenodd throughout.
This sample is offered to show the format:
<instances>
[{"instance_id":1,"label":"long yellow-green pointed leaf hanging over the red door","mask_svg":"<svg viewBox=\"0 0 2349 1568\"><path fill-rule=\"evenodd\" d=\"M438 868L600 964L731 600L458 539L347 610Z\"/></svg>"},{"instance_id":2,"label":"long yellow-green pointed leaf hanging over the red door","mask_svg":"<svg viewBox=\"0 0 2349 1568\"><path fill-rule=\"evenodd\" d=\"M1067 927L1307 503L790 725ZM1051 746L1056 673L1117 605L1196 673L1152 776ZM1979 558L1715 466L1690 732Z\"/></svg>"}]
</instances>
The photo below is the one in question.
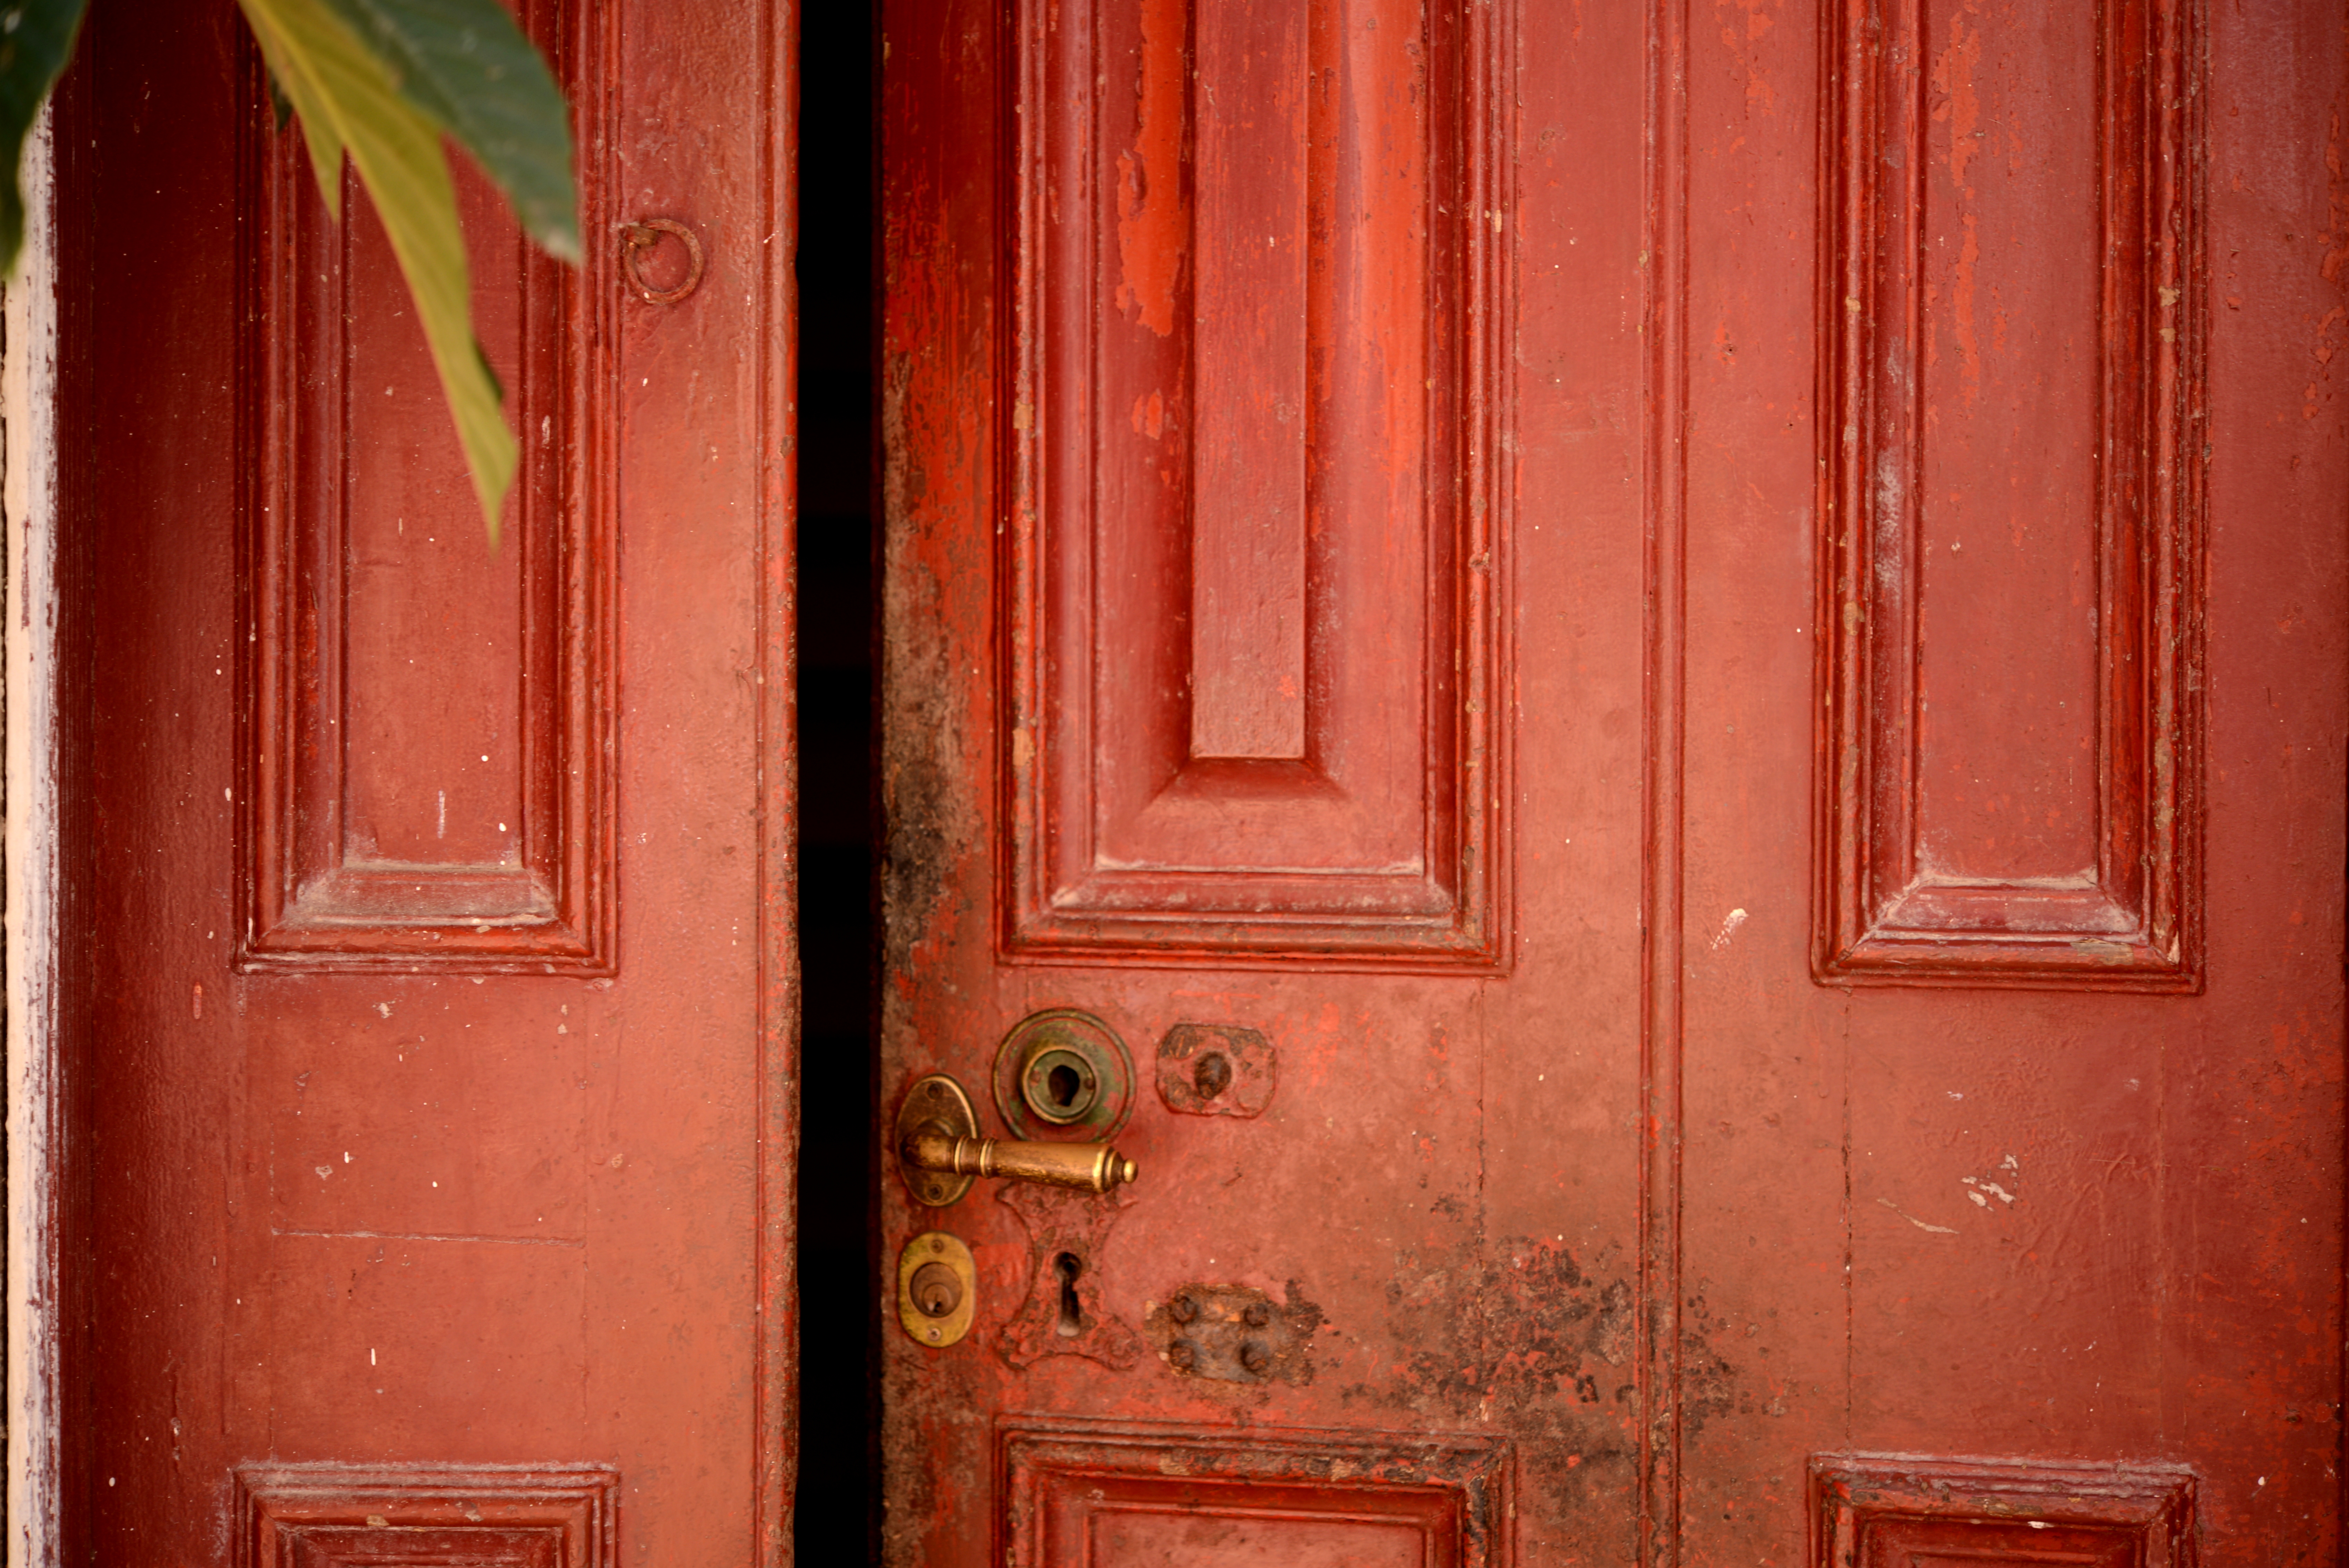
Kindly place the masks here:
<instances>
[{"instance_id":1,"label":"long yellow-green pointed leaf hanging over the red door","mask_svg":"<svg viewBox=\"0 0 2349 1568\"><path fill-rule=\"evenodd\" d=\"M498 507L514 481L514 432L505 427L498 380L472 336L472 284L456 185L437 120L409 103L392 73L329 0L237 0L261 40L277 85L294 101L310 141L312 174L329 211L338 211L343 153L357 164L392 256L409 279L416 315L432 350L456 437L482 500L482 521L498 540Z\"/></svg>"}]
</instances>

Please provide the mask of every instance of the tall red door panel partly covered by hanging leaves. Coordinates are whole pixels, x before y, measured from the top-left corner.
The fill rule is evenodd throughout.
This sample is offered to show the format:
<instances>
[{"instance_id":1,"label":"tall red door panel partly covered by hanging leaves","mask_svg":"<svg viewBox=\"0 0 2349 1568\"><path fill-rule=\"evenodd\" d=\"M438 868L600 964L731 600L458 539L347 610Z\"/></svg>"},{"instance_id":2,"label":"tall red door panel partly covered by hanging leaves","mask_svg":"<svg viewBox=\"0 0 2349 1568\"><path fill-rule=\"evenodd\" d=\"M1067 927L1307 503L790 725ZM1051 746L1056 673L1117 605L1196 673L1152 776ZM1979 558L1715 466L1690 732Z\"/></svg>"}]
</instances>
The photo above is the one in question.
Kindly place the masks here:
<instances>
[{"instance_id":1,"label":"tall red door panel partly covered by hanging leaves","mask_svg":"<svg viewBox=\"0 0 2349 1568\"><path fill-rule=\"evenodd\" d=\"M557 9L538 2L540 33ZM601 56L557 66L601 122ZM611 195L587 174L583 223L604 232ZM601 249L559 265L460 171L477 331L521 439L491 552L439 451L406 284L343 183L336 223L301 141L251 131L242 962L608 974L618 404Z\"/></svg>"}]
</instances>

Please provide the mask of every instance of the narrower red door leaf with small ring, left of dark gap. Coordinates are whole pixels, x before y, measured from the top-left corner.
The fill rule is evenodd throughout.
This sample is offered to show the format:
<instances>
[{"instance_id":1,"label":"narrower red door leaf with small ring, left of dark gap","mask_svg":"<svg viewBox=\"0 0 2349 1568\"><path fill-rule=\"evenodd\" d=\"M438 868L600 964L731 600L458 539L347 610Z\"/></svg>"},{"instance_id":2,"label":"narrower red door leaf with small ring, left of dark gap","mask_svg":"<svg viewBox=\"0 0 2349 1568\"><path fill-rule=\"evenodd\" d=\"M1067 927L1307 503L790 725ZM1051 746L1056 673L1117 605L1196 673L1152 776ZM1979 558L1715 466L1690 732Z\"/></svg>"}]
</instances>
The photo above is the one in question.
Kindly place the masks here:
<instances>
[{"instance_id":1,"label":"narrower red door leaf with small ring, left of dark gap","mask_svg":"<svg viewBox=\"0 0 2349 1568\"><path fill-rule=\"evenodd\" d=\"M787 1556L794 12L521 12L587 263L458 171L496 552L235 7L70 73L56 1561Z\"/></svg>"}]
</instances>

